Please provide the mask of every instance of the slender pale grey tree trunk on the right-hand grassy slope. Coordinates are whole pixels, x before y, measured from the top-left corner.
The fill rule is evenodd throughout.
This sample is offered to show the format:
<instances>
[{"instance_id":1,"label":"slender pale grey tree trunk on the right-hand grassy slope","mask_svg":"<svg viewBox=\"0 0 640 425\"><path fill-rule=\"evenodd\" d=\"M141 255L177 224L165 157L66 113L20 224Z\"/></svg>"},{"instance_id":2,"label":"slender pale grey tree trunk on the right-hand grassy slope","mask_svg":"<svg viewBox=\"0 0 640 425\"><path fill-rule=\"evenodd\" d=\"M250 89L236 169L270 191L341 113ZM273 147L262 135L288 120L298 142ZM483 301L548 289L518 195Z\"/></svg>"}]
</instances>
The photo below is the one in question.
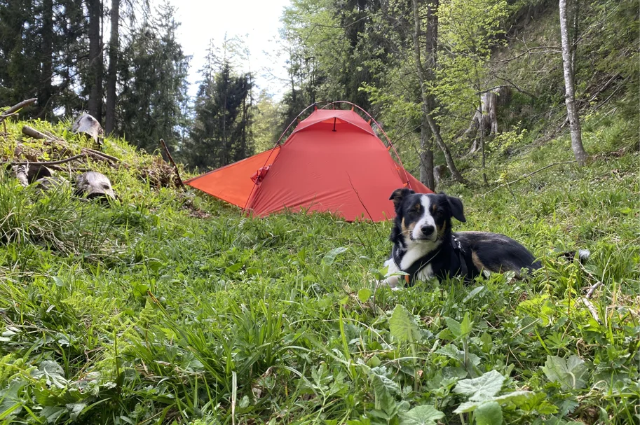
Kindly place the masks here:
<instances>
[{"instance_id":1,"label":"slender pale grey tree trunk on the right-hand grassy slope","mask_svg":"<svg viewBox=\"0 0 640 425\"><path fill-rule=\"evenodd\" d=\"M587 162L587 152L583 147L582 134L580 130L580 118L576 108L576 97L573 91L573 69L571 67L571 45L568 40L568 30L566 22L566 0L560 0L560 36L562 39L562 65L564 67L564 85L566 102L566 114L571 128L571 148L576 156L578 165L582 167Z\"/></svg>"}]
</instances>

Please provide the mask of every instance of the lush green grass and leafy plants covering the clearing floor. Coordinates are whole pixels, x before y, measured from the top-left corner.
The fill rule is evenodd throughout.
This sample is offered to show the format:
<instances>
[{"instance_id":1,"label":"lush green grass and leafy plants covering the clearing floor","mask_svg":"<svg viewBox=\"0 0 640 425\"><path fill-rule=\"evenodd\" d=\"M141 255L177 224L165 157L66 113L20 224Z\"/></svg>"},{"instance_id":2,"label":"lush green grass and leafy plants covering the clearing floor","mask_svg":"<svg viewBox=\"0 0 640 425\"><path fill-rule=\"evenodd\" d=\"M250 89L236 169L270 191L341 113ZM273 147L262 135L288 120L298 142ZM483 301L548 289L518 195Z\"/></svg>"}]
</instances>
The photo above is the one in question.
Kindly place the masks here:
<instances>
[{"instance_id":1,"label":"lush green grass and leafy plants covering the clearing floor","mask_svg":"<svg viewBox=\"0 0 640 425\"><path fill-rule=\"evenodd\" d=\"M390 291L374 285L390 223L243 217L154 188L122 141L107 148L133 165L95 164L121 197L107 206L0 179L1 424L640 422L633 149L449 188L457 229L540 256L531 279ZM568 159L551 141L503 181ZM557 258L576 248L585 265Z\"/></svg>"}]
</instances>

